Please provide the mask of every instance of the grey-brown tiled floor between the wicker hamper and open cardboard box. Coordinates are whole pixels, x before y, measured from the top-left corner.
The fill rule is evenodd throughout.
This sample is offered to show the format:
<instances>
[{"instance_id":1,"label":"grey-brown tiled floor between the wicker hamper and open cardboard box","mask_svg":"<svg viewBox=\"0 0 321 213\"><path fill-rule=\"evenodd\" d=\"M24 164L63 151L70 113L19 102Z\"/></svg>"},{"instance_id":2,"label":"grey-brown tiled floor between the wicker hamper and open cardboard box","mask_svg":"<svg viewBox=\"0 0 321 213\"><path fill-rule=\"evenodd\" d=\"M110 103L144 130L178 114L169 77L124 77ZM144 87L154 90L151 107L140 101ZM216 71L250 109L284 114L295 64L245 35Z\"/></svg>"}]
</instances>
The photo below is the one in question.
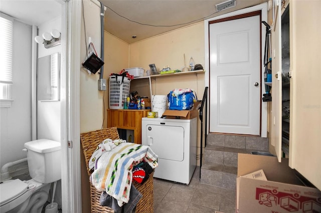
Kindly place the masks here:
<instances>
[{"instance_id":1,"label":"grey-brown tiled floor between the wicker hamper and open cardboard box","mask_svg":"<svg viewBox=\"0 0 321 213\"><path fill-rule=\"evenodd\" d=\"M235 189L201 183L200 167L189 185L154 178L154 213L235 212Z\"/></svg>"}]
</instances>

